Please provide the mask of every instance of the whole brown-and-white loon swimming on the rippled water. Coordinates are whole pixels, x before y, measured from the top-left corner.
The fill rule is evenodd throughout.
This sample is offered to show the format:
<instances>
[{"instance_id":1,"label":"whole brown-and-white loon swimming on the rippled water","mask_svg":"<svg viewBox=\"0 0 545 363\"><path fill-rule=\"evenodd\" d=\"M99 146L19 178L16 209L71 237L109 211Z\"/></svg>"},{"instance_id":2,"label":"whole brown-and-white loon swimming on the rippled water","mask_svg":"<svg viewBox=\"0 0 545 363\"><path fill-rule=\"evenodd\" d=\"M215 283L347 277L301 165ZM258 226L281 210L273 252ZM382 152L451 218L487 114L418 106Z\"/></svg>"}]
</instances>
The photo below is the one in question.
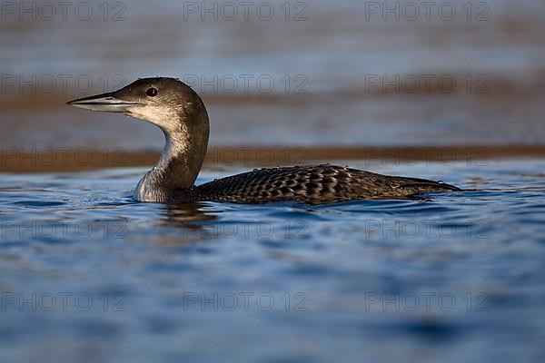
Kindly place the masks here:
<instances>
[{"instance_id":1,"label":"whole brown-and-white loon swimming on the rippled water","mask_svg":"<svg viewBox=\"0 0 545 363\"><path fill-rule=\"evenodd\" d=\"M136 201L229 201L309 204L358 199L404 199L431 191L461 191L424 179L387 176L334 165L254 170L195 186L203 166L210 126L201 97L174 78L142 78L113 93L70 104L92 111L124 113L163 130L159 162L134 190Z\"/></svg>"}]
</instances>

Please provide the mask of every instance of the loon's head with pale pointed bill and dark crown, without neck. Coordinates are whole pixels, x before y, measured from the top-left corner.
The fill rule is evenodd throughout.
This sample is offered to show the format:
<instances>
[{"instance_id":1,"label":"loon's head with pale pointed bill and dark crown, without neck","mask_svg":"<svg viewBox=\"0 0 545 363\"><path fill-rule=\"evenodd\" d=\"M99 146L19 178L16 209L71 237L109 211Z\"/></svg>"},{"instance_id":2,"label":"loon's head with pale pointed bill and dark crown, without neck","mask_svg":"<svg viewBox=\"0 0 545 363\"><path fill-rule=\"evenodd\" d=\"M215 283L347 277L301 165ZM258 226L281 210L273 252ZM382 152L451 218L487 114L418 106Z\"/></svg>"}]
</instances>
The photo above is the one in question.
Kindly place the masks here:
<instances>
[{"instance_id":1,"label":"loon's head with pale pointed bill and dark crown, without neck","mask_svg":"<svg viewBox=\"0 0 545 363\"><path fill-rule=\"evenodd\" d=\"M154 123L167 133L180 131L185 123L208 123L201 97L174 78L141 78L112 93L66 104L91 111L124 113Z\"/></svg>"}]
</instances>

